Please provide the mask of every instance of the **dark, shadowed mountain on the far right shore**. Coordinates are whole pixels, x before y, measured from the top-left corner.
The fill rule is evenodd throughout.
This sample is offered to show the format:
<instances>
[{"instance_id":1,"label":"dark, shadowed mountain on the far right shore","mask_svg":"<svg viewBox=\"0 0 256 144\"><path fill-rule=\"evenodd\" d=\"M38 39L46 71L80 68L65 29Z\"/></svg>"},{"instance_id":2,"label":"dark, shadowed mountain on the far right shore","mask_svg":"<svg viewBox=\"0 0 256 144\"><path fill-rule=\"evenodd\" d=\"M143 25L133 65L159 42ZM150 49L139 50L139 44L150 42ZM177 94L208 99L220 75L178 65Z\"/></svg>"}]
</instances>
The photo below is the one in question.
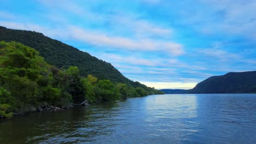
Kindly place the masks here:
<instances>
[{"instance_id":1,"label":"dark, shadowed mountain on the far right shore","mask_svg":"<svg viewBox=\"0 0 256 144\"><path fill-rule=\"evenodd\" d=\"M189 93L256 93L256 71L212 76L198 83Z\"/></svg>"}]
</instances>

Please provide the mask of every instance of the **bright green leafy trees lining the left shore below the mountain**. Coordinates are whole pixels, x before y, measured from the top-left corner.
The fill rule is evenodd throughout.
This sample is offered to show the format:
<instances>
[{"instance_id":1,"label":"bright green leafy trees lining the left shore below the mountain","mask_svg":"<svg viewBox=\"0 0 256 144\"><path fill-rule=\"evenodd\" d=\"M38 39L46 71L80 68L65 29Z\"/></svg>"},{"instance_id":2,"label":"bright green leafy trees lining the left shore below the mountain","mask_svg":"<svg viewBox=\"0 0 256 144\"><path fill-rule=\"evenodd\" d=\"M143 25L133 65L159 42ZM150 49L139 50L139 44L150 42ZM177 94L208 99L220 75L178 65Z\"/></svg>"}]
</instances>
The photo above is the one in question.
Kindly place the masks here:
<instances>
[{"instance_id":1,"label":"bright green leafy trees lining the left shore below the mountain","mask_svg":"<svg viewBox=\"0 0 256 144\"><path fill-rule=\"evenodd\" d=\"M141 83L139 83L141 86ZM145 86L146 87L146 86ZM97 80L79 75L78 67L59 69L39 52L20 43L0 42L0 117L11 117L28 105L79 104L162 94L154 88Z\"/></svg>"}]
</instances>

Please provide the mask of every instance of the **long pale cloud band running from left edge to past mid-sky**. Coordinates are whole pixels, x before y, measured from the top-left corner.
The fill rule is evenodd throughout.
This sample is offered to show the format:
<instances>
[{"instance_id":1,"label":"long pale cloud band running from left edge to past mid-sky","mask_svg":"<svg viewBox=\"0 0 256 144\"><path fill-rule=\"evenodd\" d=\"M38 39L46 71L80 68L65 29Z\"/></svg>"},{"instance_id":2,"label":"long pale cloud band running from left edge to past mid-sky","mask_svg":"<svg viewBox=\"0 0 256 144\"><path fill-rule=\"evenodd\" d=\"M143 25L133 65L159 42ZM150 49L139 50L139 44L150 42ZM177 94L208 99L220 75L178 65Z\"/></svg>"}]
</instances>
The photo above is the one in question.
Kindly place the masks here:
<instances>
[{"instance_id":1,"label":"long pale cloud band running from left edge to past mid-sky","mask_svg":"<svg viewBox=\"0 0 256 144\"><path fill-rule=\"evenodd\" d=\"M59 38L72 38L89 43L95 46L107 46L112 49L126 49L133 51L163 51L170 55L179 56L183 54L183 46L178 43L161 41L154 39L130 39L125 37L110 37L103 32L91 31L75 26L61 28L45 28L31 23L18 23L0 21L2 26L13 29L25 29L30 31L42 32L45 35ZM65 29L65 31L63 31ZM144 62L146 63L146 62Z\"/></svg>"}]
</instances>

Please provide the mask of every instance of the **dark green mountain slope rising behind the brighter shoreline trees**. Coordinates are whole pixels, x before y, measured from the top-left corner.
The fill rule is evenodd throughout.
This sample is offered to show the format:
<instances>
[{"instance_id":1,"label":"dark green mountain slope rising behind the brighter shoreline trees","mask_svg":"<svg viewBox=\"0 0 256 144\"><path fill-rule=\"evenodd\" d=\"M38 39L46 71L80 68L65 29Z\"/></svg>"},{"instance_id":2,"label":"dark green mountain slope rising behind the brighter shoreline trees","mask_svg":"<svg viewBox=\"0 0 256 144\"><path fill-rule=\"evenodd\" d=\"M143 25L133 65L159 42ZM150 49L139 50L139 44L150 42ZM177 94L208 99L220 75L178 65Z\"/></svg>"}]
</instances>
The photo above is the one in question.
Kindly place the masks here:
<instances>
[{"instance_id":1,"label":"dark green mountain slope rising behind the brighter shoreline trees","mask_svg":"<svg viewBox=\"0 0 256 144\"><path fill-rule=\"evenodd\" d=\"M0 41L16 41L26 46L33 47L40 52L44 60L57 68L66 69L70 66L76 66L80 70L81 76L89 74L100 80L108 79L113 82L127 83L133 87L147 86L139 82L133 82L122 75L110 63L102 61L87 52L80 51L73 46L62 43L61 41L51 39L42 33L9 29L0 26Z\"/></svg>"}]
</instances>

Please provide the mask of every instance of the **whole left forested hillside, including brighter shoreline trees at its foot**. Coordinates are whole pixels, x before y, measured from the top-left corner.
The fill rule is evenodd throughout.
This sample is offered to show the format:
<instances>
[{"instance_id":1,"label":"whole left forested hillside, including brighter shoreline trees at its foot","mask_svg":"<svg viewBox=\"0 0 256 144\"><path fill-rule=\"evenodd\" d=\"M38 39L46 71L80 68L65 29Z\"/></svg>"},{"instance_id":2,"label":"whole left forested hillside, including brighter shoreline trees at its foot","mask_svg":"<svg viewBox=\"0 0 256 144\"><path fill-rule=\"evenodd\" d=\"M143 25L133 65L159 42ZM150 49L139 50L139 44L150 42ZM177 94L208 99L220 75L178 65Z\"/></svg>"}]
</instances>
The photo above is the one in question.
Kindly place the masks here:
<instances>
[{"instance_id":1,"label":"whole left forested hillside, including brighter shoreline trees at its foot","mask_svg":"<svg viewBox=\"0 0 256 144\"><path fill-rule=\"evenodd\" d=\"M53 110L85 100L149 94L163 92L133 82L110 63L42 33L0 26L0 118L41 111L42 104Z\"/></svg>"}]
</instances>

